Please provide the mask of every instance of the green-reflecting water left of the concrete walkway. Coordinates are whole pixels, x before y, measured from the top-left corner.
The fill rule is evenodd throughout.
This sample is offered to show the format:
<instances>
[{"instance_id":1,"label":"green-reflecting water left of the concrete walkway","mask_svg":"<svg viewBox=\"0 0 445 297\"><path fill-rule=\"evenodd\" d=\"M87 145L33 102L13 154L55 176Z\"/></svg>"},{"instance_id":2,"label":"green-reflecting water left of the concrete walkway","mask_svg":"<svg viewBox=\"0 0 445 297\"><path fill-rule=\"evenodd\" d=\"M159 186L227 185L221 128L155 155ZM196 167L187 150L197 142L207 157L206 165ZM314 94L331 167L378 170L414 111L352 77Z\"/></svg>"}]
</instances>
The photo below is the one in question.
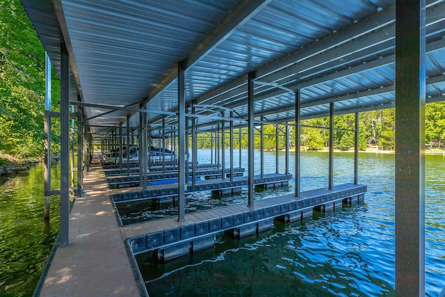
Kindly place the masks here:
<instances>
[{"instance_id":1,"label":"green-reflecting water left of the concrete walkway","mask_svg":"<svg viewBox=\"0 0 445 297\"><path fill-rule=\"evenodd\" d=\"M60 167L52 167L52 188L59 188ZM60 200L51 197L44 220L42 164L0 177L0 296L31 296L54 244Z\"/></svg>"}]
</instances>

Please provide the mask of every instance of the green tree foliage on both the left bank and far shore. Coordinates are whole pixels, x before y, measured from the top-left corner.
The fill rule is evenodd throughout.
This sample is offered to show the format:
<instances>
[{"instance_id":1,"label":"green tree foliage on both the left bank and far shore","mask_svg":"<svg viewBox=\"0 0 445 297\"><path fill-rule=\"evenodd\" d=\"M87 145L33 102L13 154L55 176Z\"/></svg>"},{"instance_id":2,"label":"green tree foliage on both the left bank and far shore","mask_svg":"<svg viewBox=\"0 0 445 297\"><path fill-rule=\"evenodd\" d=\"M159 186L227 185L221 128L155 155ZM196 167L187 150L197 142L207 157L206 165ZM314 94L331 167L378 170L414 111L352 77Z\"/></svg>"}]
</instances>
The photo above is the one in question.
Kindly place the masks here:
<instances>
[{"instance_id":1,"label":"green tree foliage on both the left bank and far shore","mask_svg":"<svg viewBox=\"0 0 445 297\"><path fill-rule=\"evenodd\" d=\"M0 0L0 152L13 156L42 156L44 152L44 49L38 40L29 18L19 0ZM57 111L60 84L56 72L52 77L52 106ZM368 145L380 149L394 149L394 109L367 111L359 116L359 149ZM329 145L329 118L303 120L300 142L309 150ZM339 150L353 148L355 115L337 115L334 118L334 147ZM257 127L259 129L259 127ZM60 122L53 120L51 129L52 150L60 150ZM264 125L265 150L276 149L277 126ZM278 125L279 150L284 150L284 125ZM225 131L225 146L229 147L229 131ZM255 148L261 137L255 131ZM289 145L295 145L295 129L291 125ZM214 135L214 134L213 134ZM198 134L198 147L211 147L210 134ZM444 147L445 102L426 105L426 143L430 147ZM234 133L234 147L247 148L247 129L242 129L241 143L238 129Z\"/></svg>"}]
</instances>

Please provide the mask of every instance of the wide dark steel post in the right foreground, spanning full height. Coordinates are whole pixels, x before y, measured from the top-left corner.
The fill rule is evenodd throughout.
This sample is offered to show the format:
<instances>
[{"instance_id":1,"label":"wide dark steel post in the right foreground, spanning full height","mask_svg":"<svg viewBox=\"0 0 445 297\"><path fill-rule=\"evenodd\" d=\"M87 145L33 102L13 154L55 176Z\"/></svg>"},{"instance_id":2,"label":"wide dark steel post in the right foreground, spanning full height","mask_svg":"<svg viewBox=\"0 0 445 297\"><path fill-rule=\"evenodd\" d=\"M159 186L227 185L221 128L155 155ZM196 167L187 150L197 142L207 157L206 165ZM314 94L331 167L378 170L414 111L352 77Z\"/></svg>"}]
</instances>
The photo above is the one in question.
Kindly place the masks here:
<instances>
[{"instance_id":1,"label":"wide dark steel post in the right foreground, spanning full height","mask_svg":"<svg viewBox=\"0 0 445 297\"><path fill-rule=\"evenodd\" d=\"M396 0L396 296L425 296L426 1Z\"/></svg>"}]
</instances>

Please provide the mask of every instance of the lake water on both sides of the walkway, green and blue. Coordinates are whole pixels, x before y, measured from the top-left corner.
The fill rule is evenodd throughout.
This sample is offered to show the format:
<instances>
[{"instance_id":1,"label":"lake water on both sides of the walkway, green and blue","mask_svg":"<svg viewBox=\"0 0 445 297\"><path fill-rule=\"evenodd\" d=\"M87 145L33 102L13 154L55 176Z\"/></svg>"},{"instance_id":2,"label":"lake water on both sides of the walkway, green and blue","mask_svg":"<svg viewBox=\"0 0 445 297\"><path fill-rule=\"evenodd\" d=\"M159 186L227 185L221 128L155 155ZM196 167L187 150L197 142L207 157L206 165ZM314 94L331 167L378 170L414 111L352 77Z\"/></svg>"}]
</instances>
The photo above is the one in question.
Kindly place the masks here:
<instances>
[{"instance_id":1,"label":"lake water on both sides of the walkway, green and blue","mask_svg":"<svg viewBox=\"0 0 445 297\"><path fill-rule=\"evenodd\" d=\"M209 163L209 150L200 150L198 159ZM235 160L238 166L238 152ZM291 154L290 172L293 160ZM275 152L265 153L265 163L266 173L275 172ZM302 191L327 186L326 153L302 153L301 168ZM353 182L353 154L336 153L334 170L334 184ZM428 296L445 286L444 172L445 157L426 156ZM394 296L394 155L360 154L359 182L368 185L364 203L342 211L275 223L273 230L241 240L221 235L215 248L165 265L152 262L149 253L138 255L151 296ZM51 198L51 220L45 222L41 165L0 177L0 193L0 296L31 296L58 232L59 201Z\"/></svg>"}]
</instances>

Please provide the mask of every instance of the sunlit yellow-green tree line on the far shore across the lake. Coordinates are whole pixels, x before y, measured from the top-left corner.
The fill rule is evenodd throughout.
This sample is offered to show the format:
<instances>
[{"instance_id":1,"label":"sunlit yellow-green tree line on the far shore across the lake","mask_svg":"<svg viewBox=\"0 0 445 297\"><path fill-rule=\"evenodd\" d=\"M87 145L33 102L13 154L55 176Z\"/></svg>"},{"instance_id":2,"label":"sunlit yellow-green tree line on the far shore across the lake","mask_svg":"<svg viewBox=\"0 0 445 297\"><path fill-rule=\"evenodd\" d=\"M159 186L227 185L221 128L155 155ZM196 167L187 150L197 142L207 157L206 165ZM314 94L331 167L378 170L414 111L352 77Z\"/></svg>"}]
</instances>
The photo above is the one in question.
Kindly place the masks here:
<instances>
[{"instance_id":1,"label":"sunlit yellow-green tree line on the far shore across the lake","mask_svg":"<svg viewBox=\"0 0 445 297\"><path fill-rule=\"evenodd\" d=\"M380 150L395 149L395 109L382 109L379 111L366 111L359 113L359 150L367 147L375 147ZM425 141L427 148L445 147L445 102L426 104L425 111ZM291 122L290 124L293 124ZM329 146L329 118L314 118L302 120L300 143L307 150L321 150ZM278 137L278 149L284 150L286 138L282 131L284 125L278 125L280 132ZM338 150L350 150L354 147L355 115L334 116L334 148ZM264 125L264 149L276 149L276 126ZM259 127L255 130L255 148L261 145ZM289 145L295 147L294 125L289 129ZM215 139L213 134L213 139ZM239 148L238 129L234 129L234 147ZM211 147L211 134L201 133L197 136L198 148ZM213 143L213 147L215 144ZM225 147L229 148L229 129L225 131ZM248 147L247 129L241 129L241 148Z\"/></svg>"}]
</instances>

